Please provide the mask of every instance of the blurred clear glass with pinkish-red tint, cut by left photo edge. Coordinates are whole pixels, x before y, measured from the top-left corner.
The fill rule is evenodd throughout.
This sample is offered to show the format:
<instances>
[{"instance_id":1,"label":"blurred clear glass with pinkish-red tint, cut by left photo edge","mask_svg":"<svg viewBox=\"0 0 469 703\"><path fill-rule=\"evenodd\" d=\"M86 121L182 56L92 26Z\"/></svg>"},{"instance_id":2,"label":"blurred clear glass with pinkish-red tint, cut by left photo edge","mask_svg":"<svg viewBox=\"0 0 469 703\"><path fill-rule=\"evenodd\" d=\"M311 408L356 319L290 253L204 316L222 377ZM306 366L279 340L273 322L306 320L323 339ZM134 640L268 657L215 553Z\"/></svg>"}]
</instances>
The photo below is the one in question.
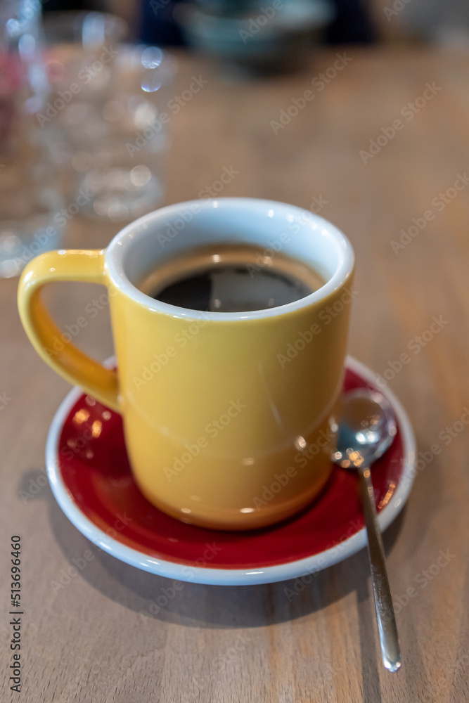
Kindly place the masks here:
<instances>
[{"instance_id":1,"label":"blurred clear glass with pinkish-red tint, cut by left photo edge","mask_svg":"<svg viewBox=\"0 0 469 703\"><path fill-rule=\"evenodd\" d=\"M0 276L20 273L56 248L63 200L54 187L36 113L49 94L41 53L39 0L0 7Z\"/></svg>"}]
</instances>

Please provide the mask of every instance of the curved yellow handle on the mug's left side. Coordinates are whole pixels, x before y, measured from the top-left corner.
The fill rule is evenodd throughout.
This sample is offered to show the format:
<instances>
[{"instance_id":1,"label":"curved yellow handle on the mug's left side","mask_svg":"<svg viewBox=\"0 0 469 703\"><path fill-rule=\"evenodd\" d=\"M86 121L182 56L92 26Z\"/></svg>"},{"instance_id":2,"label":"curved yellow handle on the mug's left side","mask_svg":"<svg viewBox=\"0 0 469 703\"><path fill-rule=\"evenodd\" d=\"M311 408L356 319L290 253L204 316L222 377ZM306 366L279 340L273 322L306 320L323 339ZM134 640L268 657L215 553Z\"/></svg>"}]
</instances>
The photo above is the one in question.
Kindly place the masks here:
<instances>
[{"instance_id":1,"label":"curved yellow handle on the mug's left side","mask_svg":"<svg viewBox=\"0 0 469 703\"><path fill-rule=\"evenodd\" d=\"M115 370L68 342L60 350L60 330L52 321L41 298L41 289L53 280L75 280L106 285L104 250L60 250L46 252L25 267L18 285L18 310L21 322L34 349L46 363L73 385L81 386L101 403L120 412Z\"/></svg>"}]
</instances>

